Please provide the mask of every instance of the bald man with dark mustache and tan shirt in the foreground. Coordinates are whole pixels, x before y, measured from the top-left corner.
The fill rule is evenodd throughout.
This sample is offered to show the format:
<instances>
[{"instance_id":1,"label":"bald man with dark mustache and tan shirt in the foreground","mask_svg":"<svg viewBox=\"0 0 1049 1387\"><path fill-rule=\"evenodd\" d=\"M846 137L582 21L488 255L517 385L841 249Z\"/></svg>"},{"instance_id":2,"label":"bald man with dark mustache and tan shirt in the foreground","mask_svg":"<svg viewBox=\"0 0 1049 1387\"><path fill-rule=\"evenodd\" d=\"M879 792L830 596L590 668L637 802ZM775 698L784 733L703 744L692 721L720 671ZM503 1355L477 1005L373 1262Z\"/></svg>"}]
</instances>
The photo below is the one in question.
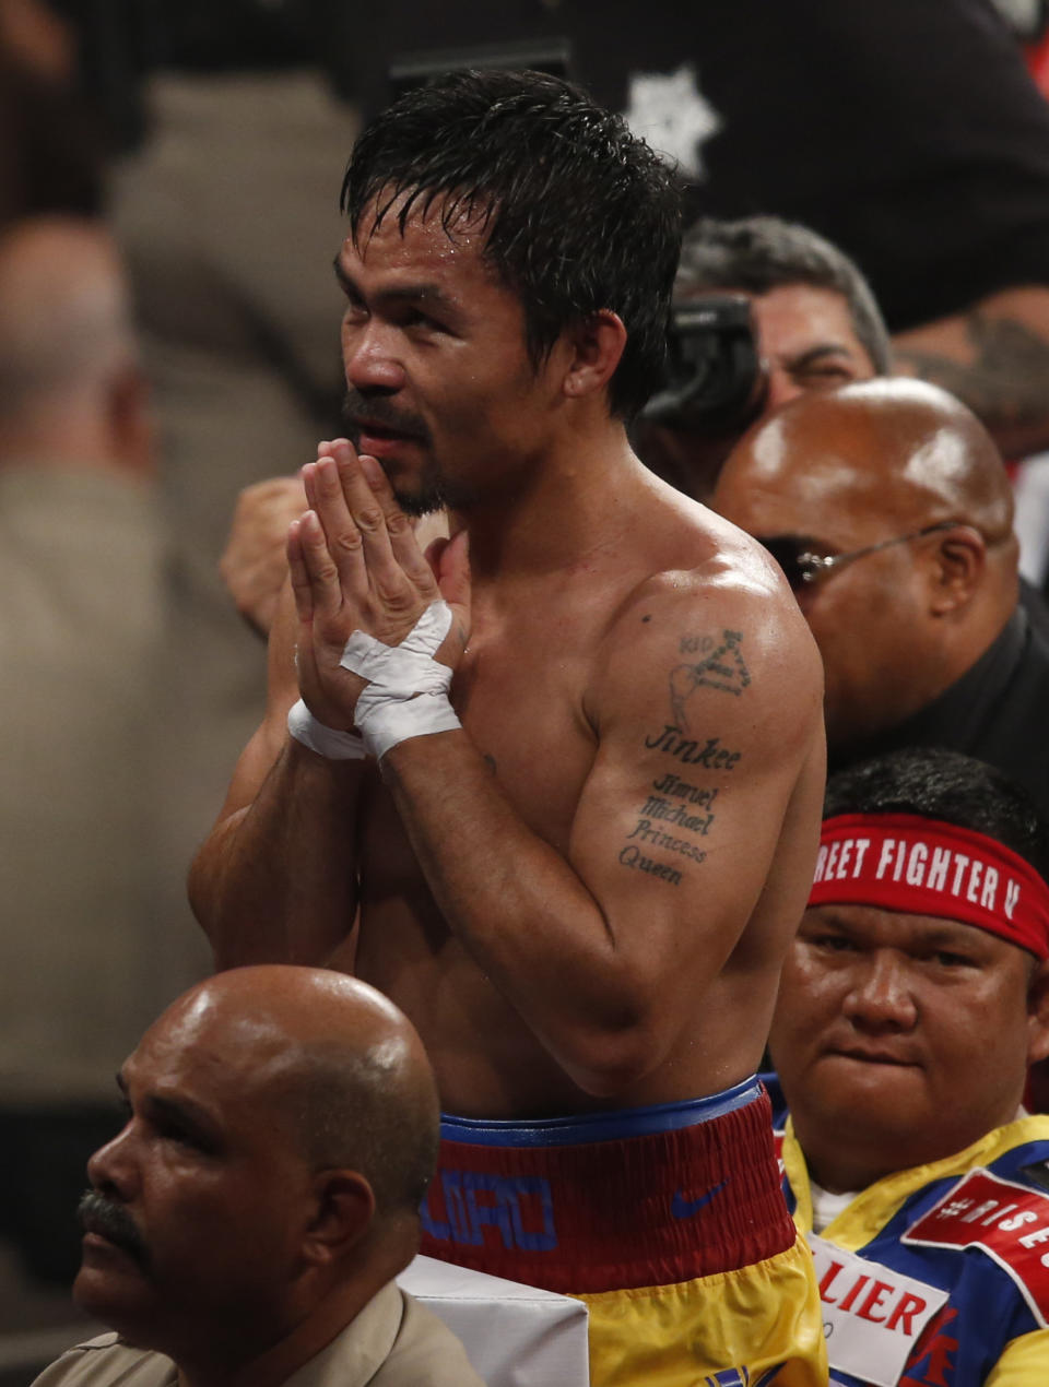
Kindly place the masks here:
<instances>
[{"instance_id":1,"label":"bald man with dark mustache and tan shirt in the foreground","mask_svg":"<svg viewBox=\"0 0 1049 1387\"><path fill-rule=\"evenodd\" d=\"M394 1277L437 1089L411 1022L319 968L236 968L150 1026L87 1164L75 1301L115 1334L39 1387L483 1387Z\"/></svg>"}]
</instances>

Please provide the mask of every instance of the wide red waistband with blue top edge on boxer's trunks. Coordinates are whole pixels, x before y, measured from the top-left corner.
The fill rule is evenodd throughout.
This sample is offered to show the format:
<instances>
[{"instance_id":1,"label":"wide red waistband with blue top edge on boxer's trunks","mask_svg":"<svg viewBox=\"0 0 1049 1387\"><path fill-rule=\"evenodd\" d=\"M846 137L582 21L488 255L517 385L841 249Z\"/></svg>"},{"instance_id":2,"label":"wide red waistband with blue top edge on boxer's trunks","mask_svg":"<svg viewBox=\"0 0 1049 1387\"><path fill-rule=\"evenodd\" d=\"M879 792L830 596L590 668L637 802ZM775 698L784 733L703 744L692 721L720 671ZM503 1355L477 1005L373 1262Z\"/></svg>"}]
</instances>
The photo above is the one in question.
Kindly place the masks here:
<instances>
[{"instance_id":1,"label":"wide red waistband with blue top edge on boxer's trunks","mask_svg":"<svg viewBox=\"0 0 1049 1387\"><path fill-rule=\"evenodd\" d=\"M423 1204L427 1257L562 1294L730 1272L794 1240L756 1079L580 1118L445 1118Z\"/></svg>"}]
</instances>

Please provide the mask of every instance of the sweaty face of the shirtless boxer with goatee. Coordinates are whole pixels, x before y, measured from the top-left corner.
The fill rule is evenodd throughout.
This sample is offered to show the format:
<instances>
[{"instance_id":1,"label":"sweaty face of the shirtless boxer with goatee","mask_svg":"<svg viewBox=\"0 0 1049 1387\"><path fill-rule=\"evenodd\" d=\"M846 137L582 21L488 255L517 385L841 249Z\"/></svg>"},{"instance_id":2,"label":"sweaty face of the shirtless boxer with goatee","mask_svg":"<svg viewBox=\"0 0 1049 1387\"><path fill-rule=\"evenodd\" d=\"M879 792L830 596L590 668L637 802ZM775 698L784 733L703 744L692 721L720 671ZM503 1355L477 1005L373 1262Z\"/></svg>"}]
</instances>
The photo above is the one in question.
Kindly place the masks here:
<instances>
[{"instance_id":1,"label":"sweaty face of the shirtless boxer with goatee","mask_svg":"<svg viewBox=\"0 0 1049 1387\"><path fill-rule=\"evenodd\" d=\"M440 223L440 203L361 222L336 261L347 298L347 423L412 512L526 485L559 399L555 344L538 369L520 300L483 258L484 233Z\"/></svg>"}]
</instances>

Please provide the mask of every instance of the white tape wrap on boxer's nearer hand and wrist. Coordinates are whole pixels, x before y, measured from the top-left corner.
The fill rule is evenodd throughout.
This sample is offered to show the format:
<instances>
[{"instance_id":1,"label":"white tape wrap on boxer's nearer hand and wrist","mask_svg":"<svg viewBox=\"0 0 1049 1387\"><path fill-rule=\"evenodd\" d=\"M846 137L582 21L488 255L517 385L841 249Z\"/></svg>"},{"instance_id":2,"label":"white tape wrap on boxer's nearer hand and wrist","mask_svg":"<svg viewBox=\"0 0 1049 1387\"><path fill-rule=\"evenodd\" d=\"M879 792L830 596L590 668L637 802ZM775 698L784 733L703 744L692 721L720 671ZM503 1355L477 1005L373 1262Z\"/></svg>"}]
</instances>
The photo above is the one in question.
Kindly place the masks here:
<instances>
[{"instance_id":1,"label":"white tape wrap on boxer's nearer hand and wrist","mask_svg":"<svg viewBox=\"0 0 1049 1387\"><path fill-rule=\"evenodd\" d=\"M365 631L354 631L346 642L339 663L368 680L357 700L354 723L376 760L409 736L462 727L448 702L452 671L433 657L451 623L451 608L438 599L400 645L383 645Z\"/></svg>"}]
</instances>

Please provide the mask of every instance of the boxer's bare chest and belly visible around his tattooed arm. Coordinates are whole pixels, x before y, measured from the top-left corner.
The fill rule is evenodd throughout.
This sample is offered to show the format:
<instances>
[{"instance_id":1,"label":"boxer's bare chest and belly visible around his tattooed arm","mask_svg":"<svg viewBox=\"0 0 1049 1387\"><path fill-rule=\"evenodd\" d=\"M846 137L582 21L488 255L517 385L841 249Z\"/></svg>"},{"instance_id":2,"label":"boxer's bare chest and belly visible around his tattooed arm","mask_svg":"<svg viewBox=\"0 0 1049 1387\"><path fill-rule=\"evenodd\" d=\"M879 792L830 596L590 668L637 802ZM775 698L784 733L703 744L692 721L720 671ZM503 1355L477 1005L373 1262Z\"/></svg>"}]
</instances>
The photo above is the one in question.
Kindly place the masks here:
<instances>
[{"instance_id":1,"label":"boxer's bare chest and belly visible around his tattooed arm","mask_svg":"<svg viewBox=\"0 0 1049 1387\"><path fill-rule=\"evenodd\" d=\"M572 821L597 752L587 695L608 601L533 605L505 616L475 609L452 702L491 774L524 824L568 854ZM441 917L397 809L376 786L364 829L357 971L412 1018L455 1111L544 1105L563 1083L520 1018L495 992ZM498 845L476 827L454 838L480 871ZM536 1100L529 1090L534 1086ZM574 1092L573 1092L574 1096Z\"/></svg>"}]
</instances>

